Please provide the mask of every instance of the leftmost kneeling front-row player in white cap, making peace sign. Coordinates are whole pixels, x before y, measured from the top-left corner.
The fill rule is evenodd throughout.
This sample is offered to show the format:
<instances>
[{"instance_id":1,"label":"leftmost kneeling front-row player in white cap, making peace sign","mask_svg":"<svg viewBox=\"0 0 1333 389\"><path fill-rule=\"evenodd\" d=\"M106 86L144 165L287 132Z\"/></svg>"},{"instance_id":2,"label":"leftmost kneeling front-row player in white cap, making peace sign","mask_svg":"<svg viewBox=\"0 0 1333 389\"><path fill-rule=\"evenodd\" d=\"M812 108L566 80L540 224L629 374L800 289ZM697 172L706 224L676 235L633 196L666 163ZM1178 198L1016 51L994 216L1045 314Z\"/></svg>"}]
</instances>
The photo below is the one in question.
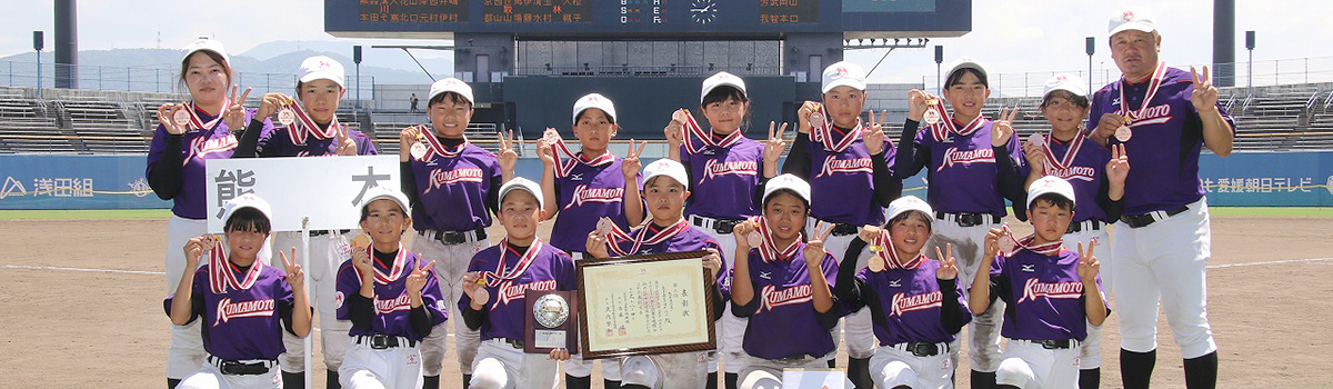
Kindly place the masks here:
<instances>
[{"instance_id":1,"label":"leftmost kneeling front-row player in white cap, making peace sign","mask_svg":"<svg viewBox=\"0 0 1333 389\"><path fill-rule=\"evenodd\" d=\"M285 252L279 252L285 272L256 261L271 228L264 200L236 197L223 220L227 246L207 234L185 242L185 269L193 277L183 276L165 301L175 325L203 317L208 352L204 366L176 388L283 388L277 369L277 356L285 352L283 328L299 337L311 333L305 273ZM208 264L199 266L204 253Z\"/></svg>"}]
</instances>

